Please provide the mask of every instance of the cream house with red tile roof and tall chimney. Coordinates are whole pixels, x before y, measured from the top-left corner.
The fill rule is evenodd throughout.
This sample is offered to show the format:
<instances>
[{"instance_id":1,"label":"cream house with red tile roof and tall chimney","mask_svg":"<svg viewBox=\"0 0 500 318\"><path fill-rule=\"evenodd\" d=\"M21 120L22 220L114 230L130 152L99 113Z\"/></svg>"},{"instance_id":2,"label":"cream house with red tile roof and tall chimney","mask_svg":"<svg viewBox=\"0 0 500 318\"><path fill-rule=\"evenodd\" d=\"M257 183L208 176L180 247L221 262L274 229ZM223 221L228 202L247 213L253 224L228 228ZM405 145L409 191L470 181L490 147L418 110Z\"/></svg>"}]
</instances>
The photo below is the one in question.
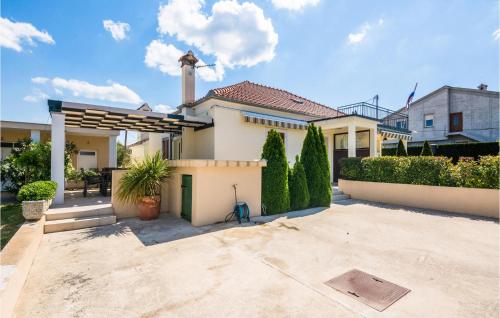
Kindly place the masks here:
<instances>
[{"instance_id":1,"label":"cream house with red tile roof and tall chimney","mask_svg":"<svg viewBox=\"0 0 500 318\"><path fill-rule=\"evenodd\" d=\"M332 181L344 157L376 156L384 138L409 138L406 130L383 127L380 120L357 112L343 112L307 98L249 81L210 90L195 98L197 59L182 56L182 104L174 114L204 121L203 127L183 127L180 133L142 135L131 145L132 156L162 150L168 159L256 160L271 129L283 137L292 164L300 155L307 126L315 123L326 138Z\"/></svg>"}]
</instances>

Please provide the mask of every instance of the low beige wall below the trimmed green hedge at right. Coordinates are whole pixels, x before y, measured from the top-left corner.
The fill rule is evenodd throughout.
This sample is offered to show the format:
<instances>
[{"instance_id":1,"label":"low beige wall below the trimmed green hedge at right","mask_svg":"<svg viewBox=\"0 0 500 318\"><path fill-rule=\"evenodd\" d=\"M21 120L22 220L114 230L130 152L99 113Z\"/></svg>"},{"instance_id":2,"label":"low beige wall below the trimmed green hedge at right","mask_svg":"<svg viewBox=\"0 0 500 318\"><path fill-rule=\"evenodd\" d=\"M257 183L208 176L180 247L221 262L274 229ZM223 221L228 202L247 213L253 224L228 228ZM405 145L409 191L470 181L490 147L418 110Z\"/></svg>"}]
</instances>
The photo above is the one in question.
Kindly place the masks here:
<instances>
[{"instance_id":1,"label":"low beige wall below the trimmed green hedge at right","mask_svg":"<svg viewBox=\"0 0 500 318\"><path fill-rule=\"evenodd\" d=\"M496 189L440 187L339 179L339 189L353 199L497 218Z\"/></svg>"}]
</instances>

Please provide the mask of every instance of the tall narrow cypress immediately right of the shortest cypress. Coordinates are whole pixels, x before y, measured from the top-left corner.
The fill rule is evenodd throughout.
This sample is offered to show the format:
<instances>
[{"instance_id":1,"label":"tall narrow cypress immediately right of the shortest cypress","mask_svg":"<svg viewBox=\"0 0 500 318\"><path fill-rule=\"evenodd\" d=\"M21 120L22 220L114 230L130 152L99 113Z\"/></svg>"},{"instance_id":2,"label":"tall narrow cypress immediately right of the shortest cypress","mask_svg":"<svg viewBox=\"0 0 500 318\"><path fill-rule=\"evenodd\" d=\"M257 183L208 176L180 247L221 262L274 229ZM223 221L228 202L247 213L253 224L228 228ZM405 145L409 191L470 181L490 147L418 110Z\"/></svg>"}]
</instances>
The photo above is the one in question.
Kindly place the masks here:
<instances>
[{"instance_id":1,"label":"tall narrow cypress immediately right of the shortest cypress","mask_svg":"<svg viewBox=\"0 0 500 318\"><path fill-rule=\"evenodd\" d=\"M302 145L302 153L300 155L300 160L304 171L306 173L307 188L309 190L309 206L315 207L319 206L320 200L320 187L321 187L321 166L319 164L318 158L320 154L318 153L317 146L318 138L317 131L314 124L307 127L306 138L304 139L304 144Z\"/></svg>"}]
</instances>

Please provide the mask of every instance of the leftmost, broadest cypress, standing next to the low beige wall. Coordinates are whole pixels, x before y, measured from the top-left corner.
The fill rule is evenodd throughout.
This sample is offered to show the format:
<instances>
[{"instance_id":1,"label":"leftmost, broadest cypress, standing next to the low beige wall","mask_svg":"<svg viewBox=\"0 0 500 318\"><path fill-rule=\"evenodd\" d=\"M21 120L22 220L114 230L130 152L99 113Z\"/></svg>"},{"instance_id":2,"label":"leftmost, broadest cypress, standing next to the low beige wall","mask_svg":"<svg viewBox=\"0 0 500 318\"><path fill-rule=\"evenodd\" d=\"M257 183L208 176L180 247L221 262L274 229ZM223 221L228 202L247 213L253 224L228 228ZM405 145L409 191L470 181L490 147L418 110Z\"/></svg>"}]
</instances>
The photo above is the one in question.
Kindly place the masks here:
<instances>
[{"instance_id":1,"label":"leftmost, broadest cypress, standing next to the low beige wall","mask_svg":"<svg viewBox=\"0 0 500 318\"><path fill-rule=\"evenodd\" d=\"M262 169L262 203L269 214L286 212L290 209L288 162L283 140L275 130L267 135L262 159L267 160Z\"/></svg>"}]
</instances>

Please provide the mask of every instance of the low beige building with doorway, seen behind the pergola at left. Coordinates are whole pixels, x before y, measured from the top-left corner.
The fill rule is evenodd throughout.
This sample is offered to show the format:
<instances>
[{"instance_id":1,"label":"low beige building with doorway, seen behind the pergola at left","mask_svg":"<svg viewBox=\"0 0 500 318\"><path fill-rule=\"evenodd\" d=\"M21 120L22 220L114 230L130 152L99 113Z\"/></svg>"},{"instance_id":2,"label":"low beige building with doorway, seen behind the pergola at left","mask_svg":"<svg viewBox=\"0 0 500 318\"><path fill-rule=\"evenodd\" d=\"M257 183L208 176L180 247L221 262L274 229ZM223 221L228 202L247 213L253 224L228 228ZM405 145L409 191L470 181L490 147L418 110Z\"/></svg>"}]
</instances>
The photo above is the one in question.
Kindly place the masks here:
<instances>
[{"instance_id":1,"label":"low beige building with doorway, seen behind the pergola at left","mask_svg":"<svg viewBox=\"0 0 500 318\"><path fill-rule=\"evenodd\" d=\"M12 148L23 139L48 142L51 126L15 121L1 121L1 159L7 157ZM71 155L75 169L102 169L116 167L116 138L119 131L66 127L66 142L75 144L78 152Z\"/></svg>"}]
</instances>

